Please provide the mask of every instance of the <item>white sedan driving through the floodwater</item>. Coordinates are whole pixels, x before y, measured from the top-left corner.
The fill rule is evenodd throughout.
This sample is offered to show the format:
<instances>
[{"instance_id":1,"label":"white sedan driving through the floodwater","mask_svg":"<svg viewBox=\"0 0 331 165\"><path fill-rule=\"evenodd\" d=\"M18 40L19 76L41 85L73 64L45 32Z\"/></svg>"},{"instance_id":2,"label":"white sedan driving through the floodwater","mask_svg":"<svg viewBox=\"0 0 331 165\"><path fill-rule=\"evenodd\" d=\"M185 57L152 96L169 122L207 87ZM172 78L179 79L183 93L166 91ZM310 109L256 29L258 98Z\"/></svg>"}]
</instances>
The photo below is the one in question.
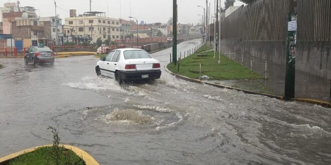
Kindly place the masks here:
<instances>
[{"instance_id":1,"label":"white sedan driving through the floodwater","mask_svg":"<svg viewBox=\"0 0 331 165\"><path fill-rule=\"evenodd\" d=\"M150 54L138 48L121 48L109 52L96 63L97 75L123 80L149 80L161 76L160 63Z\"/></svg>"}]
</instances>

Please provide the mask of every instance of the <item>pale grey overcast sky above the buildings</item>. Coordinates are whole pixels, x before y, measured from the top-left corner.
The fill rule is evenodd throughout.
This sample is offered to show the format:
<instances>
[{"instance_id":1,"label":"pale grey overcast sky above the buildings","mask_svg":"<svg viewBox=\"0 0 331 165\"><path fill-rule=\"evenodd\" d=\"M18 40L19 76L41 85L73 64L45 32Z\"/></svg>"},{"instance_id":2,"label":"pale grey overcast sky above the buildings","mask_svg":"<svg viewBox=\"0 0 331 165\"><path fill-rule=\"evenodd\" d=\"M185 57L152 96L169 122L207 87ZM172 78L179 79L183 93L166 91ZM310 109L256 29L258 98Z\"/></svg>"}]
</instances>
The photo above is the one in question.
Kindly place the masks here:
<instances>
[{"instance_id":1,"label":"pale grey overcast sky above the buildings","mask_svg":"<svg viewBox=\"0 0 331 165\"><path fill-rule=\"evenodd\" d=\"M16 2L17 0L0 0L0 5L4 6L4 3L9 1ZM224 1L221 2L222 6ZM38 15L55 15L54 0L20 0L20 2L21 6L33 6L40 9L36 11ZM208 0L209 2L211 11L214 13L214 0ZM177 3L180 23L201 22L201 16L197 14L203 14L203 8L197 5L206 6L206 0L177 0ZM56 4L59 7L57 13L63 19L69 17L69 9L76 9L77 14L90 10L89 0L56 0ZM236 2L235 6L241 4L243 3ZM136 17L139 22L144 20L146 23L166 23L173 16L173 0L92 0L92 11L106 12L109 17L123 19L129 19L131 11L131 16Z\"/></svg>"}]
</instances>

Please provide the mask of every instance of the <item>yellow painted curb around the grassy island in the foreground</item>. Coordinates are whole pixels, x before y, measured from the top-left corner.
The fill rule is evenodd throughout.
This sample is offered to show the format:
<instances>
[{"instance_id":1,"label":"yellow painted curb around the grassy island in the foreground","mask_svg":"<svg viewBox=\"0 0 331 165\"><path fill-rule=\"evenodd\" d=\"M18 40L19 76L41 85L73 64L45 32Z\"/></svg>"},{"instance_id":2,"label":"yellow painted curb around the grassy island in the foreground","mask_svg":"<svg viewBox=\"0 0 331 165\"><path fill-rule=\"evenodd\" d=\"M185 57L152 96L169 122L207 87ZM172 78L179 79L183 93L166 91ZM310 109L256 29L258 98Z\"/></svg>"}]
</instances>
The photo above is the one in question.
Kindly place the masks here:
<instances>
[{"instance_id":1,"label":"yellow painted curb around the grassy island in the foreground","mask_svg":"<svg viewBox=\"0 0 331 165\"><path fill-rule=\"evenodd\" d=\"M52 144L48 144L48 145L40 145L40 146L36 146L33 148L29 148L29 149L25 149L25 150L21 150L18 151L16 153L12 153L8 156L2 157L0 158L0 164L6 164L9 160L18 157L24 153L27 152L32 152L34 150L36 150L39 147L44 147L44 146L52 146ZM65 145L65 144L60 144L60 146L63 146L67 149L72 150L73 152L75 152L78 156L82 157L83 160L85 161L86 165L100 165L91 155L89 155L86 151L76 147L76 146L71 146L71 145Z\"/></svg>"}]
</instances>

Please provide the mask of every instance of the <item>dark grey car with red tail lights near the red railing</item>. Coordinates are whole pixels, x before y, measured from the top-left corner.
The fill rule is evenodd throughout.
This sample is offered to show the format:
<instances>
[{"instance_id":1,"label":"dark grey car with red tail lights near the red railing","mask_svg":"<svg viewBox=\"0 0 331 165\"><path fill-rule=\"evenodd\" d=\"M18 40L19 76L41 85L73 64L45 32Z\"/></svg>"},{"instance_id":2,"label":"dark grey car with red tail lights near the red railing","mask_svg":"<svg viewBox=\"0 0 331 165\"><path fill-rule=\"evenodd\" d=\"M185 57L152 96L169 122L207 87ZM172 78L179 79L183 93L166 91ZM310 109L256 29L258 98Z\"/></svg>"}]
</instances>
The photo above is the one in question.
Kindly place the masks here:
<instances>
[{"instance_id":1,"label":"dark grey car with red tail lights near the red railing","mask_svg":"<svg viewBox=\"0 0 331 165\"><path fill-rule=\"evenodd\" d=\"M26 64L32 62L33 65L42 62L53 65L55 61L54 52L47 46L33 46L24 55L24 61Z\"/></svg>"}]
</instances>

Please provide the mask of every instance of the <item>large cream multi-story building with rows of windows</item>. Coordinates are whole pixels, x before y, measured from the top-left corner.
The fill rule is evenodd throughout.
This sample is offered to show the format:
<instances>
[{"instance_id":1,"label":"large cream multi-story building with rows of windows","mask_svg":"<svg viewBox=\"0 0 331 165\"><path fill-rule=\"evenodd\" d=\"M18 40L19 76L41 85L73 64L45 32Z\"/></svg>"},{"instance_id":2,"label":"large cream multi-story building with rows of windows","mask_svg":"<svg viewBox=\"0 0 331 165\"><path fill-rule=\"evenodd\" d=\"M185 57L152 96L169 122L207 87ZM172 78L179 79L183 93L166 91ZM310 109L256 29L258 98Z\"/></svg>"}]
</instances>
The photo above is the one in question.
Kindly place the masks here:
<instances>
[{"instance_id":1,"label":"large cream multi-story building with rows of windows","mask_svg":"<svg viewBox=\"0 0 331 165\"><path fill-rule=\"evenodd\" d=\"M120 38L120 20L106 17L105 12L85 12L76 17L67 17L65 18L65 25L72 26L79 38L82 38L81 41L96 41L97 38L101 38L102 41Z\"/></svg>"}]
</instances>

